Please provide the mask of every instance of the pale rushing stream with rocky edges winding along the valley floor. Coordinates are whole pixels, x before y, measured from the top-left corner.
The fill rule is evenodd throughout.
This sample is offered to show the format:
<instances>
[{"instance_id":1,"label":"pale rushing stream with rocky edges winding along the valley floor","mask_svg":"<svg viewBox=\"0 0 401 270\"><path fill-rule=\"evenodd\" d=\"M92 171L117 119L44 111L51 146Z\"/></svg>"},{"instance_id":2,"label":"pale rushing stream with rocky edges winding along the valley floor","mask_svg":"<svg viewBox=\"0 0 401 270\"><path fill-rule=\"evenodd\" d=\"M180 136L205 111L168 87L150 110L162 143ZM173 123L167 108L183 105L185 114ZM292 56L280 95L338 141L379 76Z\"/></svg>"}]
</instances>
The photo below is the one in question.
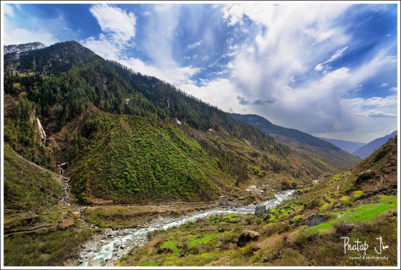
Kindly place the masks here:
<instances>
[{"instance_id":1,"label":"pale rushing stream with rocky edges winding along the valley floor","mask_svg":"<svg viewBox=\"0 0 401 270\"><path fill-rule=\"evenodd\" d=\"M266 208L275 208L277 205L289 199L294 190L287 190L276 194L276 199L268 200L260 205L266 205ZM198 211L191 215L178 218L161 218L155 220L149 227L139 229L120 229L105 233L105 239L100 240L100 246L91 246L87 244L81 252L79 266L113 266L121 256L128 253L132 248L138 248L147 243L147 233L154 230L166 230L174 226L181 226L189 221L195 221L199 218L208 218L222 214L250 214L255 212L255 205L215 208L212 210Z\"/></svg>"}]
</instances>

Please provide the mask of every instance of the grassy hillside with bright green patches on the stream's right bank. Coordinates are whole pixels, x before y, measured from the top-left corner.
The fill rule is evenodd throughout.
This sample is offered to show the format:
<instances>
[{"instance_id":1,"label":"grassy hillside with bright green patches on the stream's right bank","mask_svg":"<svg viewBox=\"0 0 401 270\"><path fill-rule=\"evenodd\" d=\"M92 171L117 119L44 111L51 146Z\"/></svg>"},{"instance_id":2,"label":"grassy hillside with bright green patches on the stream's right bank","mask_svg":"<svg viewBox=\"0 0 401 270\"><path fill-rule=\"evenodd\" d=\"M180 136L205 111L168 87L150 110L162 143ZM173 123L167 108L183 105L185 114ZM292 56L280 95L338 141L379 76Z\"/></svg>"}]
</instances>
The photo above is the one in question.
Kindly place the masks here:
<instances>
[{"instance_id":1,"label":"grassy hillside with bright green patches on the stream's right bank","mask_svg":"<svg viewBox=\"0 0 401 270\"><path fill-rule=\"evenodd\" d=\"M269 209L264 219L255 215L224 215L187 223L180 228L155 231L149 243L131 250L119 265L147 266L394 266L397 264L396 136L366 160ZM370 170L370 171L367 171ZM367 172L370 172L368 174ZM327 221L309 227L312 214ZM241 232L260 237L244 247L236 242ZM377 254L376 239L387 249ZM341 237L369 245L363 252L344 254ZM180 255L179 255L180 254Z\"/></svg>"}]
</instances>

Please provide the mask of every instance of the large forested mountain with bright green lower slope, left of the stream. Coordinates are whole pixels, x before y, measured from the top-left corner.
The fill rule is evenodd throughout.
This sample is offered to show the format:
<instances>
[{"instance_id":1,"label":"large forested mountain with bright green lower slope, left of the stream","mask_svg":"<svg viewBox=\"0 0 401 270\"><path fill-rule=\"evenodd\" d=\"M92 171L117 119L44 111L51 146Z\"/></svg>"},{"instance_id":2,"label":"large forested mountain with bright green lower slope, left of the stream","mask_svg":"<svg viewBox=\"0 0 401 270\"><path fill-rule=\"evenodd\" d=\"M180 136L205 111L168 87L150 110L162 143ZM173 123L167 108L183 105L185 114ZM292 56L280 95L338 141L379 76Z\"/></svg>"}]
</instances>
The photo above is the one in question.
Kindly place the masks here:
<instances>
[{"instance_id":1,"label":"large forested mountain with bright green lower slope, left of the stream","mask_svg":"<svg viewBox=\"0 0 401 270\"><path fill-rule=\"evenodd\" d=\"M303 186L358 161L306 133L312 146L280 142L75 41L6 56L5 142L49 170L66 163L78 203L253 200L250 184Z\"/></svg>"}]
</instances>

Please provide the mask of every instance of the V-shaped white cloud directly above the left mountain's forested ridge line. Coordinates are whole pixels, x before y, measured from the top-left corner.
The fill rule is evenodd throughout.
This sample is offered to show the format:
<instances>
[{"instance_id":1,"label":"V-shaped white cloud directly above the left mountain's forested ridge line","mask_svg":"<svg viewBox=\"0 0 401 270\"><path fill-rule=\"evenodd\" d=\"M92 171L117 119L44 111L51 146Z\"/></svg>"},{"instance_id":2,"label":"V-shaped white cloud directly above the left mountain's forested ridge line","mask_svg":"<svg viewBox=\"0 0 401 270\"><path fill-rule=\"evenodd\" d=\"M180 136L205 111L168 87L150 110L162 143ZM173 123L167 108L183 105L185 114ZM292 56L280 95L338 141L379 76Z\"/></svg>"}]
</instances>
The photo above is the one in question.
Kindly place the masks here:
<instances>
[{"instance_id":1,"label":"V-shaped white cloud directly above the left mountain's forested ridge line","mask_svg":"<svg viewBox=\"0 0 401 270\"><path fill-rule=\"evenodd\" d=\"M152 20L146 26L148 36L142 41L143 50L154 63L126 55L126 49L132 46L135 36L135 16L133 13L109 5L97 5L91 8L91 13L98 20L103 33L97 38L90 37L81 43L96 54L118 61L136 72L155 76L176 86L194 85L195 82L191 77L198 73L200 68L180 67L172 58L171 43L174 38L172 33L177 23L175 17L177 11L171 5L156 6L155 11L156 14L152 14ZM167 12L168 16L164 14ZM184 59L188 60L190 57L185 56Z\"/></svg>"}]
</instances>

